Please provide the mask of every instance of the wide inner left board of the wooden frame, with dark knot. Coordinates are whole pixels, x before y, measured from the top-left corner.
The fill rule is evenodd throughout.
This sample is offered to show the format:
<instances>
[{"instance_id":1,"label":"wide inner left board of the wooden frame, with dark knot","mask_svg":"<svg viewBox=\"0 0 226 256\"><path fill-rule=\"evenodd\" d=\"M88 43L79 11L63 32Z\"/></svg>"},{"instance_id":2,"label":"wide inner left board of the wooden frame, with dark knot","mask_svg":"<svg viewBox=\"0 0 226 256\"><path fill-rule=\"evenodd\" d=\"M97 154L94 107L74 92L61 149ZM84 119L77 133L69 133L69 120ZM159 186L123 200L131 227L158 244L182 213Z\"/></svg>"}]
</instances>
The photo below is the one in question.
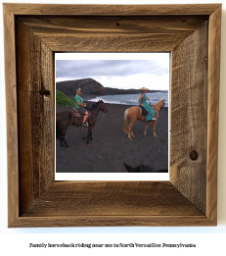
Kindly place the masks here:
<instances>
[{"instance_id":1,"label":"wide inner left board of the wooden frame, with dark knot","mask_svg":"<svg viewBox=\"0 0 226 256\"><path fill-rule=\"evenodd\" d=\"M18 20L20 213L54 182L53 53Z\"/></svg>"}]
</instances>

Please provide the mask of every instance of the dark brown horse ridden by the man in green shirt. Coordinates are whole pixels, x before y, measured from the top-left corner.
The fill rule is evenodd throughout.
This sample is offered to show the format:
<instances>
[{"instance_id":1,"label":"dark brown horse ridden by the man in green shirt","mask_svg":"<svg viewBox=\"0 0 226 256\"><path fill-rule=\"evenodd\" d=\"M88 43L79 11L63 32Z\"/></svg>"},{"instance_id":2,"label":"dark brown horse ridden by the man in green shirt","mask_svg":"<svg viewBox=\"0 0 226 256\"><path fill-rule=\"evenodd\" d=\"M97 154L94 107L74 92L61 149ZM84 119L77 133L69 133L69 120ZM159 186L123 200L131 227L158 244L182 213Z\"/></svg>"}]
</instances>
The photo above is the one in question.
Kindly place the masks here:
<instances>
[{"instance_id":1,"label":"dark brown horse ridden by the man in green shirt","mask_svg":"<svg viewBox=\"0 0 226 256\"><path fill-rule=\"evenodd\" d=\"M97 103L92 105L91 116L88 117L88 132L87 132L87 144L90 145L89 141L93 141L92 139L92 129L97 122L97 116L99 112L103 111L107 113L108 110L102 100L99 100ZM68 147L68 143L66 142L65 136L66 131L69 126L79 127L79 120L72 117L72 113L70 111L58 112L56 115L56 136L57 139L60 138L61 146L66 145ZM64 143L63 143L64 142Z\"/></svg>"}]
</instances>

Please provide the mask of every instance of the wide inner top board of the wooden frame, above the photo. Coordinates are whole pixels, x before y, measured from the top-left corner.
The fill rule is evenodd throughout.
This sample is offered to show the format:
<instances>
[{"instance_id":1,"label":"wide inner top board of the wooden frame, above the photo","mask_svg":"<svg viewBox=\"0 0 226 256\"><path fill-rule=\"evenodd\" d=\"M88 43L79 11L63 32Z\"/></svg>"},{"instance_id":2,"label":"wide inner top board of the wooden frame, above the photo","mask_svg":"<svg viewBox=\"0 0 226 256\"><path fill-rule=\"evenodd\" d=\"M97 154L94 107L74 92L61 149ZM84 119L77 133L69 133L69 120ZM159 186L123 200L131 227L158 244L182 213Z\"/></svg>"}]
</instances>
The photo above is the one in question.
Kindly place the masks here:
<instances>
[{"instance_id":1,"label":"wide inner top board of the wooden frame, above the photo","mask_svg":"<svg viewBox=\"0 0 226 256\"><path fill-rule=\"evenodd\" d=\"M188 17L21 17L24 26L53 51L171 51L206 16ZM98 50L100 49L100 50Z\"/></svg>"}]
</instances>

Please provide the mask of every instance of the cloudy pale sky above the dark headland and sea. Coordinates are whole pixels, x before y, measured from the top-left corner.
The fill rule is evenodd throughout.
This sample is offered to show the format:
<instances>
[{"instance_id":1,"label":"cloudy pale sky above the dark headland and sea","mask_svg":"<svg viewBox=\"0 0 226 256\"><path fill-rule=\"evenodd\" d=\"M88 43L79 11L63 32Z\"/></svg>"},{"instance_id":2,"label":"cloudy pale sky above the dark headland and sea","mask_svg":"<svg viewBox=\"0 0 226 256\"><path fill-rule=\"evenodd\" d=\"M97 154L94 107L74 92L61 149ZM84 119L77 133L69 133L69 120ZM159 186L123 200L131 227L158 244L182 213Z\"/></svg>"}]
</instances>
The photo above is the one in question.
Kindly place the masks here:
<instances>
[{"instance_id":1,"label":"cloudy pale sky above the dark headland and sea","mask_svg":"<svg viewBox=\"0 0 226 256\"><path fill-rule=\"evenodd\" d=\"M153 60L56 60L56 81L91 77L106 87L167 89L169 59L161 56Z\"/></svg>"}]
</instances>

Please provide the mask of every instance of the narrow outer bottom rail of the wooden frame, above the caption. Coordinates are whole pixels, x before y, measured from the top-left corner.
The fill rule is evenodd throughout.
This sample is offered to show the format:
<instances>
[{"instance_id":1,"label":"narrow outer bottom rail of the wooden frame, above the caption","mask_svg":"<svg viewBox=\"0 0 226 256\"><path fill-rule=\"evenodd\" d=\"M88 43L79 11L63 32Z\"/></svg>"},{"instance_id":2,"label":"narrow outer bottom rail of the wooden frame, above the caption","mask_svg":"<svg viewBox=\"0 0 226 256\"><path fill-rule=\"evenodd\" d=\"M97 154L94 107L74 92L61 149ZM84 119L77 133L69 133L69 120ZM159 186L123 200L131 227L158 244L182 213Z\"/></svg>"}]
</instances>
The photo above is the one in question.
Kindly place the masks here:
<instances>
[{"instance_id":1,"label":"narrow outer bottom rail of the wooden frame, above the caption","mask_svg":"<svg viewBox=\"0 0 226 256\"><path fill-rule=\"evenodd\" d=\"M21 217L10 228L40 227L191 227L214 226L204 216L61 216Z\"/></svg>"}]
</instances>

